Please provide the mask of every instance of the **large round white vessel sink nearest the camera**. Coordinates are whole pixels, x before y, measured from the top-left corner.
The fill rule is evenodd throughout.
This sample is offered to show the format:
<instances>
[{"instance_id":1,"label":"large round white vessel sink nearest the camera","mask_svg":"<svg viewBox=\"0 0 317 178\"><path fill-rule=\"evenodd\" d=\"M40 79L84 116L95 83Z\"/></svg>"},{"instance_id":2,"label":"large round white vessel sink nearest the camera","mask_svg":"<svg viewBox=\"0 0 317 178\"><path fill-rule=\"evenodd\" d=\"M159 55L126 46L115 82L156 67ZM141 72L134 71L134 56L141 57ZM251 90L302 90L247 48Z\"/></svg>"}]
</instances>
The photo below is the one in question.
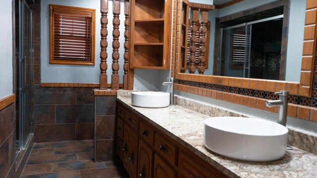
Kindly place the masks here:
<instances>
[{"instance_id":1,"label":"large round white vessel sink nearest the camera","mask_svg":"<svg viewBox=\"0 0 317 178\"><path fill-rule=\"evenodd\" d=\"M205 146L225 157L272 161L284 156L288 129L261 119L212 117L204 120Z\"/></svg>"}]
</instances>

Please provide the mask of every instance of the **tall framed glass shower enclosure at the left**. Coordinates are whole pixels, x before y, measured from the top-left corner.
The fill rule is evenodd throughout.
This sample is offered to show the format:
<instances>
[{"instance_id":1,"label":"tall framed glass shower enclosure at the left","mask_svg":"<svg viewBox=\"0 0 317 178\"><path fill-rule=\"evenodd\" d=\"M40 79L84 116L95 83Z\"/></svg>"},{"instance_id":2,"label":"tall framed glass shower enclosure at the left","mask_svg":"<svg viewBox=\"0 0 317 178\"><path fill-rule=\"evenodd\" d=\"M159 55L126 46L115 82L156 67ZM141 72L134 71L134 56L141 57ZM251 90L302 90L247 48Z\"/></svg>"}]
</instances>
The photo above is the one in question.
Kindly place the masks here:
<instances>
[{"instance_id":1,"label":"tall framed glass shower enclosure at the left","mask_svg":"<svg viewBox=\"0 0 317 178\"><path fill-rule=\"evenodd\" d=\"M24 0L15 0L16 26L16 151L23 149L33 132L33 30L32 10Z\"/></svg>"}]
</instances>

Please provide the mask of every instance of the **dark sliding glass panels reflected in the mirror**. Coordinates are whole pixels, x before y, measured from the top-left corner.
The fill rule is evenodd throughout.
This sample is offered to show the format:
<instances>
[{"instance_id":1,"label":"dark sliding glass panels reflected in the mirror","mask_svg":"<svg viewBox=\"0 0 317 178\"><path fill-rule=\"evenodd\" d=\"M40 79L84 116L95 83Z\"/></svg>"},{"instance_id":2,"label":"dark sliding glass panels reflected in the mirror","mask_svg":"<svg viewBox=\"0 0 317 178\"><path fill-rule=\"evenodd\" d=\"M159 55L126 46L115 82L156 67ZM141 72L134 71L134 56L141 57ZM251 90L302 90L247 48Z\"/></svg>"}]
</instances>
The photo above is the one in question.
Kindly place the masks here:
<instances>
[{"instance_id":1,"label":"dark sliding glass panels reflected in the mirror","mask_svg":"<svg viewBox=\"0 0 317 178\"><path fill-rule=\"evenodd\" d=\"M283 77L282 25L283 15L278 15L222 28L217 75L269 80Z\"/></svg>"}]
</instances>

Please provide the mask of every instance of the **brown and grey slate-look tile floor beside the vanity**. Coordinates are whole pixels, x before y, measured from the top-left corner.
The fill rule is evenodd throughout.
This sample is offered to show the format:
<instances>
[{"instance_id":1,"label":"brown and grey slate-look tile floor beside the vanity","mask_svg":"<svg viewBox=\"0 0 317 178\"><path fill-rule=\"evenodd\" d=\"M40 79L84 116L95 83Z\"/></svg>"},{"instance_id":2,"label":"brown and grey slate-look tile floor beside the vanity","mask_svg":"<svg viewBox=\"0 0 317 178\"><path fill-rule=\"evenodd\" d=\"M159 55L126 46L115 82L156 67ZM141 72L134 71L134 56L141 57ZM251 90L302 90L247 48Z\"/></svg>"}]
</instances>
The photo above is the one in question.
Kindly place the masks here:
<instances>
[{"instance_id":1,"label":"brown and grey slate-look tile floor beside the vanity","mask_svg":"<svg viewBox=\"0 0 317 178\"><path fill-rule=\"evenodd\" d=\"M129 178L121 162L93 158L93 140L34 143L21 178Z\"/></svg>"}]
</instances>

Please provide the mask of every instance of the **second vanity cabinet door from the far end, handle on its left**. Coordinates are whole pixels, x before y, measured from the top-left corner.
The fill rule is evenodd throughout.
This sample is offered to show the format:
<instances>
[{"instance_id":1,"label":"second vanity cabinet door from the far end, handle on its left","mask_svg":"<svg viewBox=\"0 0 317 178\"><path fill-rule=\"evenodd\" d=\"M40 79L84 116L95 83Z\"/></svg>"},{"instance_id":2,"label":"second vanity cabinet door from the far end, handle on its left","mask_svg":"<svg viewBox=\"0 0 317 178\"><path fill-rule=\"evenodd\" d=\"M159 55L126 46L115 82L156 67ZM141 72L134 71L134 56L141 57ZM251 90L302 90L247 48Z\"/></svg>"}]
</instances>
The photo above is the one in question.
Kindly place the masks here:
<instances>
[{"instance_id":1,"label":"second vanity cabinet door from the far end, handle on its left","mask_svg":"<svg viewBox=\"0 0 317 178\"><path fill-rule=\"evenodd\" d=\"M138 168L138 135L130 131L129 140L129 175L131 178L137 178L137 168Z\"/></svg>"}]
</instances>

